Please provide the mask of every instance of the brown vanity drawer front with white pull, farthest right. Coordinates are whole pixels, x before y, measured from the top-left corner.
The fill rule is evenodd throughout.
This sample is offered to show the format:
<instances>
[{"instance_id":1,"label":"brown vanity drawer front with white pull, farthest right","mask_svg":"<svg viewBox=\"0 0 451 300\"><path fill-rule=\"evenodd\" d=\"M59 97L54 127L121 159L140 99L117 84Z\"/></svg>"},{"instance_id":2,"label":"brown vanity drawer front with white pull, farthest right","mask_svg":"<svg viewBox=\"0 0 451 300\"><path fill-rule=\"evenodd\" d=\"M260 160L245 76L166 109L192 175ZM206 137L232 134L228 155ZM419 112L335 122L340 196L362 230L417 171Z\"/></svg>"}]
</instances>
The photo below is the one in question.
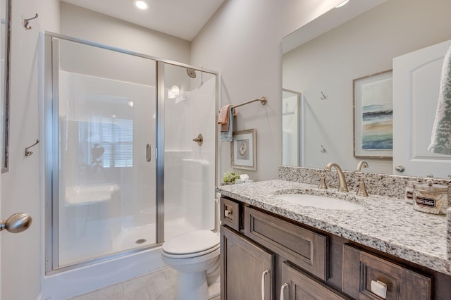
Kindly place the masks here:
<instances>
[{"instance_id":1,"label":"brown vanity drawer front with white pull, farthest right","mask_svg":"<svg viewBox=\"0 0 451 300\"><path fill-rule=\"evenodd\" d=\"M431 299L432 280L350 245L343 246L342 291L355 299ZM386 296L371 292L386 285ZM376 282L383 282L376 283Z\"/></svg>"}]
</instances>

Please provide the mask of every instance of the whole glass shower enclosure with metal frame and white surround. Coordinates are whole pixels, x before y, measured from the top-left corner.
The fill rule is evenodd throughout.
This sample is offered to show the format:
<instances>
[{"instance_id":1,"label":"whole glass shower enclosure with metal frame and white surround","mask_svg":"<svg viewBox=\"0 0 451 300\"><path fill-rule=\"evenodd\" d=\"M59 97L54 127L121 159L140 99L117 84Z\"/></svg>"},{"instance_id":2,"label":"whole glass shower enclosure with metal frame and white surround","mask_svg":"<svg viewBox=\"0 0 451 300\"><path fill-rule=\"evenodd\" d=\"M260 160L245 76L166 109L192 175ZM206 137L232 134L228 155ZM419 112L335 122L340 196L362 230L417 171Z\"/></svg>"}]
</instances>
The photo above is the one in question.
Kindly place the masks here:
<instances>
[{"instance_id":1,"label":"whole glass shower enclosure with metal frame and white surround","mask_svg":"<svg viewBox=\"0 0 451 300\"><path fill-rule=\"evenodd\" d=\"M47 275L215 227L217 73L54 34L44 61Z\"/></svg>"}]
</instances>

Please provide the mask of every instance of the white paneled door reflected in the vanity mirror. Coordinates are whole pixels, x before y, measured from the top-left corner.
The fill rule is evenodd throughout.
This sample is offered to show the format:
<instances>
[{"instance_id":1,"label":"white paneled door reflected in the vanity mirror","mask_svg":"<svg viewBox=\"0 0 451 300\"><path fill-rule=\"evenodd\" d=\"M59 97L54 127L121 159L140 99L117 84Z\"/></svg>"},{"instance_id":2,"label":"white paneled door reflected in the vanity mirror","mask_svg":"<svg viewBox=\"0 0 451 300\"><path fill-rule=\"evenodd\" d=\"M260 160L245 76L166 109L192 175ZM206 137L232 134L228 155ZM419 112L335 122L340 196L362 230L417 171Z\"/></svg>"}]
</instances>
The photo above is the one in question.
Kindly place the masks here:
<instances>
[{"instance_id":1,"label":"white paneled door reflected in the vanity mirror","mask_svg":"<svg viewBox=\"0 0 451 300\"><path fill-rule=\"evenodd\" d=\"M451 40L393 58L393 174L447 178L451 173L451 156L428 151L450 46Z\"/></svg>"}]
</instances>

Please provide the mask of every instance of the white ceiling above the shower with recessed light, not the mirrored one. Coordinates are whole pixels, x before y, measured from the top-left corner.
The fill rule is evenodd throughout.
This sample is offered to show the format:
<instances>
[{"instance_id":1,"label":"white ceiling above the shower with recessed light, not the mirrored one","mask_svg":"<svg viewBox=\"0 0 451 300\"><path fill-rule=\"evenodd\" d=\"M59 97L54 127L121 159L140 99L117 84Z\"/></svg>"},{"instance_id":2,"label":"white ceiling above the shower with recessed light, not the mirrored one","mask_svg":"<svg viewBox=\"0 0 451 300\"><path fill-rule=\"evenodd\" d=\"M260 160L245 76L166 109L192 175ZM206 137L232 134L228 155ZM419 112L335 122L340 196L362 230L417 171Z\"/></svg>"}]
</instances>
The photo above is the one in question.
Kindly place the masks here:
<instances>
[{"instance_id":1,"label":"white ceiling above the shower with recessed light, not the mirrored one","mask_svg":"<svg viewBox=\"0 0 451 300\"><path fill-rule=\"evenodd\" d=\"M147 11L132 0L62 1L191 41L225 0L147 0Z\"/></svg>"}]
</instances>

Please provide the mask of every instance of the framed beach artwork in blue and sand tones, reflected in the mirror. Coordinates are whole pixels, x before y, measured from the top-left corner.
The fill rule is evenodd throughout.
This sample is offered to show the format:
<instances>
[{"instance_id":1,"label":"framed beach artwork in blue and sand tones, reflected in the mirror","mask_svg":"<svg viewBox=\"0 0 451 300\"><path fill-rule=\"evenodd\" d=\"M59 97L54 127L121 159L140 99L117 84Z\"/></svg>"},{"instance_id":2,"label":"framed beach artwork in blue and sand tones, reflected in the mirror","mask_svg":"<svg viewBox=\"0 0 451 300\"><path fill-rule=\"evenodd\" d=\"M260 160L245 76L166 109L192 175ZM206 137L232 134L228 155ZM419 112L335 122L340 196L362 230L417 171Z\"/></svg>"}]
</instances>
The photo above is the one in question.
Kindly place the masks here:
<instances>
[{"instance_id":1,"label":"framed beach artwork in blue and sand tones, reflected in the mirror","mask_svg":"<svg viewBox=\"0 0 451 300\"><path fill-rule=\"evenodd\" d=\"M393 157L393 72L360 77L354 87L354 157Z\"/></svg>"}]
</instances>

